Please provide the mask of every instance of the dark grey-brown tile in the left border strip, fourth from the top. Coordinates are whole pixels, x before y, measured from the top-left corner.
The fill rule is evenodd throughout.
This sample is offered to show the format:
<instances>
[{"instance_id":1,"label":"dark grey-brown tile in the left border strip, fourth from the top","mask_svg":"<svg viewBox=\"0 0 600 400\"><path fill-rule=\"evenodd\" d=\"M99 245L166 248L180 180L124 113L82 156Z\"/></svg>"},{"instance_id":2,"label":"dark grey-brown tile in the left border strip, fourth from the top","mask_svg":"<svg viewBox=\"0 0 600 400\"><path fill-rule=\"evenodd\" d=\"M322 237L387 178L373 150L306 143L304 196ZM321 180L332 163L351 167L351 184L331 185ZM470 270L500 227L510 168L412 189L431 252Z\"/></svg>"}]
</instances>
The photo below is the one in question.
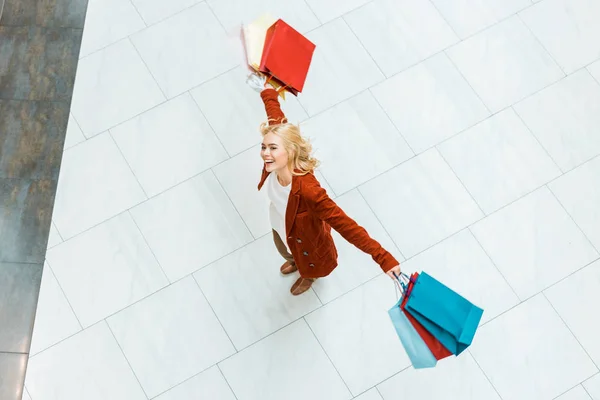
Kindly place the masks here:
<instances>
[{"instance_id":1,"label":"dark grey-brown tile in the left border strip, fourth from the top","mask_svg":"<svg viewBox=\"0 0 600 400\"><path fill-rule=\"evenodd\" d=\"M0 261L42 263L56 181L0 178Z\"/></svg>"}]
</instances>

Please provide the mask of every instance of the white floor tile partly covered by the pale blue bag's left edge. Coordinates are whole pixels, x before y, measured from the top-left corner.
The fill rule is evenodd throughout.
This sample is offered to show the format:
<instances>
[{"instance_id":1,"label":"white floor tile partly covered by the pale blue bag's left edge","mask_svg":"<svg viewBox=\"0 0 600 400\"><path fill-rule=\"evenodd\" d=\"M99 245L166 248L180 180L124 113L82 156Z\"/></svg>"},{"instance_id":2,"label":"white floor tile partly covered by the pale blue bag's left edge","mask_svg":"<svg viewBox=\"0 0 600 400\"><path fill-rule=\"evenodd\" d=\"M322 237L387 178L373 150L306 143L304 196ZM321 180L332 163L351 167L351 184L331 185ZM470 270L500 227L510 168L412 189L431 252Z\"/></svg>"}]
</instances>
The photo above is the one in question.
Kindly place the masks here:
<instances>
[{"instance_id":1,"label":"white floor tile partly covered by the pale blue bag's left edge","mask_svg":"<svg viewBox=\"0 0 600 400\"><path fill-rule=\"evenodd\" d=\"M382 274L306 317L355 396L410 365L387 313L395 293Z\"/></svg>"}]
</instances>

